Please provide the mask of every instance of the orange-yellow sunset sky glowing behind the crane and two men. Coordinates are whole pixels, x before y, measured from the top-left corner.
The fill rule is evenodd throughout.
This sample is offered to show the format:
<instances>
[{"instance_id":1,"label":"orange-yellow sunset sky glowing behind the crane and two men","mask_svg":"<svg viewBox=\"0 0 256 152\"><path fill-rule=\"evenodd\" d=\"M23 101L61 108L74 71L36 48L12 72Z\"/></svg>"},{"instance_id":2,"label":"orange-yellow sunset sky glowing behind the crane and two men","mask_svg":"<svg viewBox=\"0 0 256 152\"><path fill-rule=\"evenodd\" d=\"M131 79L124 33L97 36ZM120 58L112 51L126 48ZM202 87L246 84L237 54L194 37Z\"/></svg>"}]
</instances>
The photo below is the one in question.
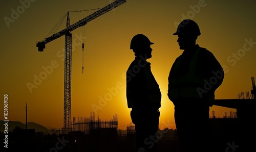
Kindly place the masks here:
<instances>
[{"instance_id":1,"label":"orange-yellow sunset sky glowing behind the crane and two men","mask_svg":"<svg viewBox=\"0 0 256 152\"><path fill-rule=\"evenodd\" d=\"M50 31L68 11L103 8L112 2L0 1L0 119L4 119L4 94L8 94L8 120L25 123L28 103L28 122L63 127L65 37L46 44L44 52L37 51L36 42L51 36ZM251 77L256 77L255 7L256 1L252 0L127 0L72 31L71 120L95 112L96 118L102 120L117 114L119 129L126 129L132 122L131 109L126 104L125 72L134 60L130 41L142 33L155 43L148 62L162 93L159 127L175 129L167 78L170 67L182 53L173 33L180 21L187 18L199 24L201 35L197 43L210 50L224 68L225 78L216 91L216 99L237 98L239 92L250 91ZM71 24L95 11L71 12ZM66 18L55 33L65 26ZM212 111L222 117L222 112L229 114L236 109L213 106L210 116Z\"/></svg>"}]
</instances>

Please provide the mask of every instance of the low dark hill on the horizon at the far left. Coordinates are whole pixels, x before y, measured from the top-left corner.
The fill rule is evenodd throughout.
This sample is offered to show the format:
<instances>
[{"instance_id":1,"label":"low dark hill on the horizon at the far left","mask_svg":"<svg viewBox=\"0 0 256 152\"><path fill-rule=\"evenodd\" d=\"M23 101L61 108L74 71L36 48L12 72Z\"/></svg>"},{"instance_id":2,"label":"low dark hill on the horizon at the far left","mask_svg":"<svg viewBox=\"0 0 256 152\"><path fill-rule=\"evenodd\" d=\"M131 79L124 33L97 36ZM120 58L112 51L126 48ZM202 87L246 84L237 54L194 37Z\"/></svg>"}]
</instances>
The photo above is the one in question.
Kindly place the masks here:
<instances>
[{"instance_id":1,"label":"low dark hill on the horizon at the far left","mask_svg":"<svg viewBox=\"0 0 256 152\"><path fill-rule=\"evenodd\" d=\"M3 132L5 130L5 126L3 125L5 122L3 120L0 120L0 130ZM20 128L26 129L26 124L22 123L20 121L8 121L8 131L12 131L15 129L16 126L19 126ZM36 132L49 132L50 130L47 129L45 126L42 126L35 122L28 122L27 123L28 129L35 129Z\"/></svg>"}]
</instances>

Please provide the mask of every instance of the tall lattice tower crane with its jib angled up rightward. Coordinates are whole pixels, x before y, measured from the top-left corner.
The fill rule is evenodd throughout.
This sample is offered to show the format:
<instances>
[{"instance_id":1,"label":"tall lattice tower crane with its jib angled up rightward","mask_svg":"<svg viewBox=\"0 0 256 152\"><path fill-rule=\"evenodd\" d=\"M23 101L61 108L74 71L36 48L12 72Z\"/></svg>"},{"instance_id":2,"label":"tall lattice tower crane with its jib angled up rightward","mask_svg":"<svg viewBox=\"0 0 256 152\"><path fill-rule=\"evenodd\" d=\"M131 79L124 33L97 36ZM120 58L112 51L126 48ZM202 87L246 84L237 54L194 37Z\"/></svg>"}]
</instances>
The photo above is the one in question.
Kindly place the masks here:
<instances>
[{"instance_id":1,"label":"tall lattice tower crane with its jib angled up rightward","mask_svg":"<svg viewBox=\"0 0 256 152\"><path fill-rule=\"evenodd\" d=\"M66 132L70 130L70 114L71 114L71 60L72 60L72 34L71 32L81 26L86 25L89 21L103 15L106 12L125 3L125 0L116 0L111 4L103 7L102 9L92 13L91 15L79 20L78 22L70 25L69 12L67 15L66 29L53 34L52 36L45 38L42 41L36 43L39 52L43 52L46 44L65 35L65 72L64 72L64 120L63 130Z\"/></svg>"}]
</instances>

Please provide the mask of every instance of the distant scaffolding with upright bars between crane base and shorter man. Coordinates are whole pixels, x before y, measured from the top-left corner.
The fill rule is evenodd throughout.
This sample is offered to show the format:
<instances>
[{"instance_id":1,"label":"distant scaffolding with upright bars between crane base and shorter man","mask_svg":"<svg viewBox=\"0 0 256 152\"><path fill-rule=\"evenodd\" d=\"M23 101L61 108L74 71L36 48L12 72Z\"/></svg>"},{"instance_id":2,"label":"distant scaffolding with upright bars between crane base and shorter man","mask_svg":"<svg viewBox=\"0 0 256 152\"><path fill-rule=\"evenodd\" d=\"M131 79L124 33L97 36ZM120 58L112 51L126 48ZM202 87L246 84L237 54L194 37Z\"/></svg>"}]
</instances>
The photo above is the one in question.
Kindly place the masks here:
<instances>
[{"instance_id":1,"label":"distant scaffolding with upright bars between crane base and shorter man","mask_svg":"<svg viewBox=\"0 0 256 152\"><path fill-rule=\"evenodd\" d=\"M95 113L91 112L90 117L73 117L73 123L71 125L73 126L73 131L81 131L84 134L89 134L92 129L115 128L117 130L117 114L113 115L112 119L103 121L99 116L95 120Z\"/></svg>"}]
</instances>

